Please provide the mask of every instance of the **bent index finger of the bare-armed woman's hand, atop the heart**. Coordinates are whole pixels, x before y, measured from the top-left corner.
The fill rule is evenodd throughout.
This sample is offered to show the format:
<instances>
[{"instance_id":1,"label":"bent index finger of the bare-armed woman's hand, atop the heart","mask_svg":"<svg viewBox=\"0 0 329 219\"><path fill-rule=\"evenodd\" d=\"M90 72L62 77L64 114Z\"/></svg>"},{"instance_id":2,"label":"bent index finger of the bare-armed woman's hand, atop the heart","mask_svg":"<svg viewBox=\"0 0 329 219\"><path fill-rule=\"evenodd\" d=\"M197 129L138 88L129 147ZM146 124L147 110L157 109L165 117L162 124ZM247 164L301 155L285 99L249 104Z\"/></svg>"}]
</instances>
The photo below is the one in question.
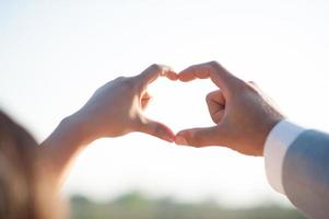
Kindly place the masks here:
<instances>
[{"instance_id":1,"label":"bent index finger of the bare-armed woman's hand, atop the heart","mask_svg":"<svg viewBox=\"0 0 329 219\"><path fill-rule=\"evenodd\" d=\"M146 68L141 74L141 83L143 88L146 88L150 83L155 81L158 77L166 77L171 80L177 80L178 74L173 71L168 66L153 64Z\"/></svg>"}]
</instances>

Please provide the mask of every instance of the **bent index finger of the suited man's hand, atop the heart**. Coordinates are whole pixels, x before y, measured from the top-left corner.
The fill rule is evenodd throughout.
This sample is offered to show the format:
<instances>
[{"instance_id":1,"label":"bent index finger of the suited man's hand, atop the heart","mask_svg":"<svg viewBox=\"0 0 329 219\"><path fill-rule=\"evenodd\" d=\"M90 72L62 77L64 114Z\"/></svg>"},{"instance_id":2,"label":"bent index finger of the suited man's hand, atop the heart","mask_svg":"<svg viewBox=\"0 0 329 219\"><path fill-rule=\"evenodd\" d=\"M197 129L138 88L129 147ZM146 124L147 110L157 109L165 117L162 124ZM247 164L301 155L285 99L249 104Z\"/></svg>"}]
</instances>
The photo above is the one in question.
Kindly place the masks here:
<instances>
[{"instance_id":1,"label":"bent index finger of the suited man's hand, atop the heart","mask_svg":"<svg viewBox=\"0 0 329 219\"><path fill-rule=\"evenodd\" d=\"M216 61L190 66L179 72L180 81L191 81L195 79L210 78L214 84L221 88L224 92L230 91L232 87L239 80Z\"/></svg>"}]
</instances>

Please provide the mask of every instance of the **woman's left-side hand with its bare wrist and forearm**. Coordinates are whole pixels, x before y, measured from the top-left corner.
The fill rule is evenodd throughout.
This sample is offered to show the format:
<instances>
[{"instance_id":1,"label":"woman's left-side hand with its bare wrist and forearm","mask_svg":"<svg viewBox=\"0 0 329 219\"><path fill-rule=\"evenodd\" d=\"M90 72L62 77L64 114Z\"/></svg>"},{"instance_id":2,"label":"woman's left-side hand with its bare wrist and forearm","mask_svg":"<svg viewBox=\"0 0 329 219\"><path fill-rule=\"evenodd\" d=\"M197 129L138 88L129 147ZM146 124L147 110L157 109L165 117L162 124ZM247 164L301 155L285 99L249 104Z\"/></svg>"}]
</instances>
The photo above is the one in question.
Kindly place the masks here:
<instances>
[{"instance_id":1,"label":"woman's left-side hand with its bare wrist and forearm","mask_svg":"<svg viewBox=\"0 0 329 219\"><path fill-rule=\"evenodd\" d=\"M59 186L77 154L102 137L141 131L173 142L175 135L168 127L143 115L151 99L148 85L158 77L178 78L168 67L152 65L136 77L121 77L96 90L80 111L64 118L42 143L42 173Z\"/></svg>"}]
</instances>

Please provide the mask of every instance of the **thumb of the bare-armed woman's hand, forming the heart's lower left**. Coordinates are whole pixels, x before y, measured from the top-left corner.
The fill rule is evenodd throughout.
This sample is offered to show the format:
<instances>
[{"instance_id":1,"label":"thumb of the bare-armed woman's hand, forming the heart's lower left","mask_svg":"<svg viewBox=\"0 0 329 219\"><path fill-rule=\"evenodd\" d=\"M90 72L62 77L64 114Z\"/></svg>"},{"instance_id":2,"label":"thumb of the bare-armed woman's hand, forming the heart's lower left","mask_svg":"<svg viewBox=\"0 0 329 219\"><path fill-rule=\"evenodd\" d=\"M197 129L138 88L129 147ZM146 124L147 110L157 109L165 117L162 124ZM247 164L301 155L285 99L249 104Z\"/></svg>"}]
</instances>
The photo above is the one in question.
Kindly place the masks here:
<instances>
[{"instance_id":1,"label":"thumb of the bare-armed woman's hand, forming the heart's lower left","mask_svg":"<svg viewBox=\"0 0 329 219\"><path fill-rule=\"evenodd\" d=\"M139 131L149 134L168 142L174 142L175 134L164 124L149 119L144 116L141 117Z\"/></svg>"}]
</instances>

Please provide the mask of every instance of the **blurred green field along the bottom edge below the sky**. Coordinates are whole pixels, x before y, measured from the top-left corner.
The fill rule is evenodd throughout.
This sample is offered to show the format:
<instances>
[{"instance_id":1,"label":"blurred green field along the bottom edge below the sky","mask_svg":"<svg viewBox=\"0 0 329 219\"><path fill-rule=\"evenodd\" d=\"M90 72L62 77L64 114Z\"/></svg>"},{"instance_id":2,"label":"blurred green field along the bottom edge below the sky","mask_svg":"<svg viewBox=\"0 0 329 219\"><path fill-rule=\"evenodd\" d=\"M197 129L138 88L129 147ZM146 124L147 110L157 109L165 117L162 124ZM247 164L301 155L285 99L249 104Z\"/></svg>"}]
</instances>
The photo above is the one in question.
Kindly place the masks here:
<instances>
[{"instance_id":1,"label":"blurred green field along the bottom edge below the sky","mask_svg":"<svg viewBox=\"0 0 329 219\"><path fill-rule=\"evenodd\" d=\"M227 209L212 201L183 204L171 198L152 199L138 192L103 203L74 195L70 210L71 219L305 219L295 209L271 205Z\"/></svg>"}]
</instances>

